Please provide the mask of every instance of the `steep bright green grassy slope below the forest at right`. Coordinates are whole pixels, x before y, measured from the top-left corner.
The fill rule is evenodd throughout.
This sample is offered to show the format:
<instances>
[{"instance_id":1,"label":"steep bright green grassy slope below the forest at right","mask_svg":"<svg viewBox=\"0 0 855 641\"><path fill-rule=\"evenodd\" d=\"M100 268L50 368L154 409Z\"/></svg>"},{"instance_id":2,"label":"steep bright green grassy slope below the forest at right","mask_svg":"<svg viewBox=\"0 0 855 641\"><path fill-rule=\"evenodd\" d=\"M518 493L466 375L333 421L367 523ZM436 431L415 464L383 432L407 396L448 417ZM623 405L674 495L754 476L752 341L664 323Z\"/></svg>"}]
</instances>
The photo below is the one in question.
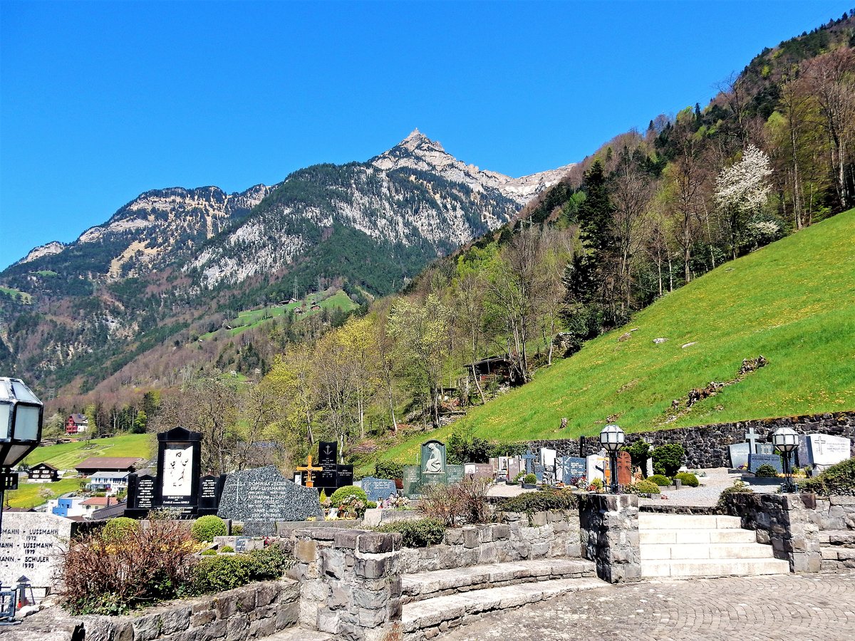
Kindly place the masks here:
<instances>
[{"instance_id":1,"label":"steep bright green grassy slope below the forest at right","mask_svg":"<svg viewBox=\"0 0 855 641\"><path fill-rule=\"evenodd\" d=\"M663 424L672 400L758 355L766 367ZM843 409L855 409L855 210L716 268L431 436L471 426L492 441L571 438L606 420L639 432ZM382 456L412 462L425 438Z\"/></svg>"}]
</instances>

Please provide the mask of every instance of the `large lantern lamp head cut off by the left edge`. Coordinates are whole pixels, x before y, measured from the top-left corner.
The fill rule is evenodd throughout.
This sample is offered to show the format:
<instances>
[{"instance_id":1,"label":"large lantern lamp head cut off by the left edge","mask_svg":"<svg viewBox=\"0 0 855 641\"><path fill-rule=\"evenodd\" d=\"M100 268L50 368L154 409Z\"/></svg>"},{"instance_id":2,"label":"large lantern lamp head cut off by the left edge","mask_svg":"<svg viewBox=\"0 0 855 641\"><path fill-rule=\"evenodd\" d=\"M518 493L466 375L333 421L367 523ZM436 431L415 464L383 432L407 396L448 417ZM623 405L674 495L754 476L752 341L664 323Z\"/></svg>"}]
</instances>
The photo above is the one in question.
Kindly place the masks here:
<instances>
[{"instance_id":1,"label":"large lantern lamp head cut off by the left edge","mask_svg":"<svg viewBox=\"0 0 855 641\"><path fill-rule=\"evenodd\" d=\"M0 377L0 467L11 468L38 446L44 404L21 379Z\"/></svg>"}]
</instances>

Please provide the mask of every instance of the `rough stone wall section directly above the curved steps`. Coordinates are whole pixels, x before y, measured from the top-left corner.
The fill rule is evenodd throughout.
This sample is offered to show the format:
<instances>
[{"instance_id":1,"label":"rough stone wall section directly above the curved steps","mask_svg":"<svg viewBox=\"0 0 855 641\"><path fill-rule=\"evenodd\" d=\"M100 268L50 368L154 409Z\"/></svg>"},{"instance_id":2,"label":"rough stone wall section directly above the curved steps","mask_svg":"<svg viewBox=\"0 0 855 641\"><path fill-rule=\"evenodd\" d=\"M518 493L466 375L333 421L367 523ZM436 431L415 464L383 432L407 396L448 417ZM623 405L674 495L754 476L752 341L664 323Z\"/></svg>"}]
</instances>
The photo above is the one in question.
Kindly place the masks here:
<instances>
[{"instance_id":1,"label":"rough stone wall section directly above the curved steps","mask_svg":"<svg viewBox=\"0 0 855 641\"><path fill-rule=\"evenodd\" d=\"M508 512L502 520L446 530L445 540L429 548L404 548L401 571L419 573L581 555L576 510L535 512L530 520L527 514Z\"/></svg>"}]
</instances>

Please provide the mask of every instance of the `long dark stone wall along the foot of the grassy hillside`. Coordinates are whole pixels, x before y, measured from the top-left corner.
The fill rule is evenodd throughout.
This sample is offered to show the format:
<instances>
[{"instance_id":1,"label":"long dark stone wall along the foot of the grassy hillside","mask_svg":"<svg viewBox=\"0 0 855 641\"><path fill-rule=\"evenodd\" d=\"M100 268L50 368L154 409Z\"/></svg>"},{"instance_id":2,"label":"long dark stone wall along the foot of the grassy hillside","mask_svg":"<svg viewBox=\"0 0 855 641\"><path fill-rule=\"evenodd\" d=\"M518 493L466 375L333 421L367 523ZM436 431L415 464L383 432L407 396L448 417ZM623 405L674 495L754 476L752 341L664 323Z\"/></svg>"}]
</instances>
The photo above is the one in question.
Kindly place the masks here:
<instances>
[{"instance_id":1,"label":"long dark stone wall along the foot of the grassy hillside","mask_svg":"<svg viewBox=\"0 0 855 641\"><path fill-rule=\"evenodd\" d=\"M834 414L784 416L781 418L742 420L735 423L697 427L676 427L655 432L627 434L627 444L644 438L654 447L679 443L686 450L687 468L727 468L730 464L728 445L743 443L745 433L752 427L765 440L778 427L792 427L799 434L828 434L852 439L852 456L855 456L855 412ZM581 452L580 452L580 440ZM558 438L530 442L532 448L557 450L558 456L591 456L601 448L599 438Z\"/></svg>"}]
</instances>

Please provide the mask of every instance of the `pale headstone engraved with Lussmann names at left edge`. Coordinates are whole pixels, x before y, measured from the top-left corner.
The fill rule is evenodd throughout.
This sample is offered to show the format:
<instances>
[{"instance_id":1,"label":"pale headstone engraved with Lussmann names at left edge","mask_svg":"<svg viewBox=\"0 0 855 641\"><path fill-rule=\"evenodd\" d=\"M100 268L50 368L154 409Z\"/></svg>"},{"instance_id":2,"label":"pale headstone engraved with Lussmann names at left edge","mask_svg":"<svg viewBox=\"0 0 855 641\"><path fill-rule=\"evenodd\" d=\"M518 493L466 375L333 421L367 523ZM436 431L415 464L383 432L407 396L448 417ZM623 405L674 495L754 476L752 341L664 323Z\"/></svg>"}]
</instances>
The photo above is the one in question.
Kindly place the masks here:
<instances>
[{"instance_id":1,"label":"pale headstone engraved with Lussmann names at left edge","mask_svg":"<svg viewBox=\"0 0 855 641\"><path fill-rule=\"evenodd\" d=\"M38 590L56 587L54 574L76 523L37 512L7 512L0 538L0 581L14 585L21 576Z\"/></svg>"}]
</instances>

